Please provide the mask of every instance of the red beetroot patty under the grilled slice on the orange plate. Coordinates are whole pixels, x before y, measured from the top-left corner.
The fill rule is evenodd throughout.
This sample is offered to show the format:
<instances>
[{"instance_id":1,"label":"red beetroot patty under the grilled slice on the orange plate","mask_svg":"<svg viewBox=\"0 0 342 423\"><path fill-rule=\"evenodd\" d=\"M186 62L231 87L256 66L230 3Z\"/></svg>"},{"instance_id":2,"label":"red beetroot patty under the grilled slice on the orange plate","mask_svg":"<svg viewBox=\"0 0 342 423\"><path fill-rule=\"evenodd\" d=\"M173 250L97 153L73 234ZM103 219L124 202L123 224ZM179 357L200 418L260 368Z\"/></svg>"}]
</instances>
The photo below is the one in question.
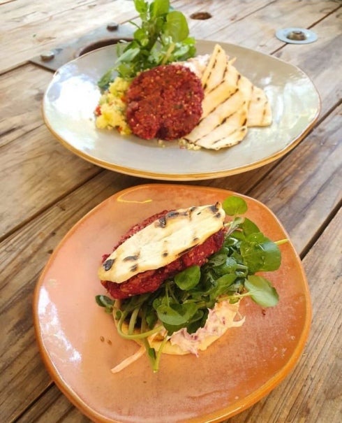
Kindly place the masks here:
<instances>
[{"instance_id":1,"label":"red beetroot patty under the grilled slice on the orange plate","mask_svg":"<svg viewBox=\"0 0 342 423\"><path fill-rule=\"evenodd\" d=\"M121 238L119 243L115 245L114 250L118 248L121 243L124 243L127 238L133 236L137 231L140 231L140 229L146 227L156 219L163 218L166 213L168 212L163 211L149 217L140 224L136 224ZM209 236L204 243L191 248L191 250L188 250L178 259L172 261L166 266L156 270L138 273L126 280L126 282L117 283L102 280L101 283L114 299L125 299L129 296L144 294L145 292L154 292L164 282L164 280L172 278L172 276L176 275L185 268L193 265L202 266L202 264L205 264L207 257L211 256L211 254L214 254L214 252L218 251L222 247L224 232L224 229L221 229L216 232L216 234ZM107 257L107 254L104 255L103 261L105 261Z\"/></svg>"}]
</instances>

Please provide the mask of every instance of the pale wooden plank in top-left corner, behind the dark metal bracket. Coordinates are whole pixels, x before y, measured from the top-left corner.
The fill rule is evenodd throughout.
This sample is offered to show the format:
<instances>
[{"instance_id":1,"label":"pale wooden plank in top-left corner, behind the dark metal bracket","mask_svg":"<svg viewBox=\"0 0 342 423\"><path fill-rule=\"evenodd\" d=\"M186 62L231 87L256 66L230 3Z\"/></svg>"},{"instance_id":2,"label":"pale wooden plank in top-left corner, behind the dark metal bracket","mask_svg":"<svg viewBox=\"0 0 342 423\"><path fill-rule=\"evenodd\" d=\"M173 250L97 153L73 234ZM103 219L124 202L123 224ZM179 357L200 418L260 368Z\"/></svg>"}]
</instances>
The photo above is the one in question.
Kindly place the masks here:
<instances>
[{"instance_id":1,"label":"pale wooden plank in top-left corner, behind the dark metal bracket","mask_svg":"<svg viewBox=\"0 0 342 423\"><path fill-rule=\"evenodd\" d=\"M1 34L0 72L13 69L31 57L80 38L98 27L106 27L109 22L126 22L137 16L133 1L126 0L81 1L77 5L71 1L41 2L37 13L36 3L22 1L19 9L16 3L7 3L0 9L1 20L7 27ZM3 8L12 9L13 13L14 8L16 16L10 17L9 12L2 15ZM18 26L17 20L22 24Z\"/></svg>"}]
</instances>

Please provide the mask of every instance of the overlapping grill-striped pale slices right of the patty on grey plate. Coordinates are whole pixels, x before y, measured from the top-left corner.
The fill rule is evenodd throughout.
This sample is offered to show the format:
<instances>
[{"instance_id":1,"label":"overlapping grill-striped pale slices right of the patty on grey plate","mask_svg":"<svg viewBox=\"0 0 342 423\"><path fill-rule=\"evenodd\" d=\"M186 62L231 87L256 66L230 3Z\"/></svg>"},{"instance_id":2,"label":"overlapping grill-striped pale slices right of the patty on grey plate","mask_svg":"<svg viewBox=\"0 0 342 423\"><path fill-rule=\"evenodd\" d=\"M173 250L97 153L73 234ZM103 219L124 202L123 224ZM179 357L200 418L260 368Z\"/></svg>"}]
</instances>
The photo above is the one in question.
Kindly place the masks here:
<instances>
[{"instance_id":1,"label":"overlapping grill-striped pale slices right of the patty on grey plate","mask_svg":"<svg viewBox=\"0 0 342 423\"><path fill-rule=\"evenodd\" d=\"M188 143L219 150L239 143L248 127L268 126L272 110L265 92L242 76L220 45L215 45L202 74L202 117Z\"/></svg>"}]
</instances>

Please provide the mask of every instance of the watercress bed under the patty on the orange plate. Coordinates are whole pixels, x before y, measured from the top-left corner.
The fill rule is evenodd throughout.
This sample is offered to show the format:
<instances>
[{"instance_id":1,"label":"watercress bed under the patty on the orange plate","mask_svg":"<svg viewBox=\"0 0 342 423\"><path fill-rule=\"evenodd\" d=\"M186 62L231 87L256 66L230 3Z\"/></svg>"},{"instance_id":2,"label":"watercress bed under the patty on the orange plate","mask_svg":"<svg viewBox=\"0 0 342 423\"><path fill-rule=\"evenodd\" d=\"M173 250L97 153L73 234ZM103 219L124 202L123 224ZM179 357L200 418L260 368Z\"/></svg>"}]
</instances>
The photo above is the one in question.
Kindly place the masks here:
<instances>
[{"instance_id":1,"label":"watercress bed under the patty on the orange plate","mask_svg":"<svg viewBox=\"0 0 342 423\"><path fill-rule=\"evenodd\" d=\"M230 196L223 201L227 223L225 240L220 250L200 266L190 266L150 294L132 296L121 301L116 314L118 331L128 339L144 339L154 371L158 371L161 350L154 351L147 337L165 329L168 336L185 328L189 334L205 326L209 309L219 301L236 303L250 296L262 308L278 303L278 293L267 278L257 272L275 271L281 265L281 251L258 226L244 217L244 199ZM283 243L285 240L279 241ZM96 301L112 307L110 299L97 296ZM128 334L122 324L128 323ZM167 339L165 337L165 339ZM161 349L163 348L163 343Z\"/></svg>"}]
</instances>

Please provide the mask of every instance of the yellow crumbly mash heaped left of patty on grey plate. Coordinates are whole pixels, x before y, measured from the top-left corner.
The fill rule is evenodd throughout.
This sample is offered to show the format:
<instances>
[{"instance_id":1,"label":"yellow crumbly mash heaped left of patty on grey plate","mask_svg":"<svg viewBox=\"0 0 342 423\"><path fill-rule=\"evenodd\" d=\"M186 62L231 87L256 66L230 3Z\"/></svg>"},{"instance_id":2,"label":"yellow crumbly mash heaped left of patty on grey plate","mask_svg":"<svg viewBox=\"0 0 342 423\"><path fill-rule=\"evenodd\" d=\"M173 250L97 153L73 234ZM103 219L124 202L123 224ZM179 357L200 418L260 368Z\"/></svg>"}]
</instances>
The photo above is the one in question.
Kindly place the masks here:
<instances>
[{"instance_id":1,"label":"yellow crumbly mash heaped left of patty on grey plate","mask_svg":"<svg viewBox=\"0 0 342 423\"><path fill-rule=\"evenodd\" d=\"M117 77L101 96L96 109L98 129L115 128L120 134L131 134L126 122L126 103L123 100L129 84L127 80Z\"/></svg>"}]
</instances>

